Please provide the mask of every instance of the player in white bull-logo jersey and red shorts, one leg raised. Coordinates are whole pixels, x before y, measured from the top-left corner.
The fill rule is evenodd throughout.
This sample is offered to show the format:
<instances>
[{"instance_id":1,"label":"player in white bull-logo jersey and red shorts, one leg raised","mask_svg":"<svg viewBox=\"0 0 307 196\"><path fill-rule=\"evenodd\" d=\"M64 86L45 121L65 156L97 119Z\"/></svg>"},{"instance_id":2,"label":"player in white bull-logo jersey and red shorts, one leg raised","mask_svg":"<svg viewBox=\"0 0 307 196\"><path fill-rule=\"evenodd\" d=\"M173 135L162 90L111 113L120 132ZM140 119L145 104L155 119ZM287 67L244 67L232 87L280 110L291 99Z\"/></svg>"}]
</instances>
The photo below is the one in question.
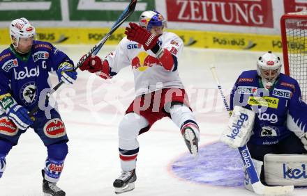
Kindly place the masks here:
<instances>
[{"instance_id":1,"label":"player in white bull-logo jersey and red shorts, one leg raised","mask_svg":"<svg viewBox=\"0 0 307 196\"><path fill-rule=\"evenodd\" d=\"M178 74L178 58L184 47L178 35L165 32L163 15L145 11L139 24L129 23L117 49L106 58L91 56L80 70L110 79L123 67L132 66L135 100L119 124L121 176L113 183L115 193L133 190L139 143L137 136L162 117L180 127L191 154L197 156L200 132Z\"/></svg>"}]
</instances>

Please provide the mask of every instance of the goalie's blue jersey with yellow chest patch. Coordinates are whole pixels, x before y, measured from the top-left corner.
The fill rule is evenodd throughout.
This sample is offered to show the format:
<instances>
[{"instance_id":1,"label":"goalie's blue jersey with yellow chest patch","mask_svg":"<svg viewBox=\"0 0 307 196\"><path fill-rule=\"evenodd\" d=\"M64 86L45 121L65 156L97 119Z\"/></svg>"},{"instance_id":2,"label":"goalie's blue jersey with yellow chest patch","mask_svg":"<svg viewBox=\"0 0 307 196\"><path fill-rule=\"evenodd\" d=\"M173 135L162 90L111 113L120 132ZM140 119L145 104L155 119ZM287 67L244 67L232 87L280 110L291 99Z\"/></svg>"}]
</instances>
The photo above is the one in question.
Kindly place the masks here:
<instances>
[{"instance_id":1,"label":"goalie's blue jersey with yellow chest patch","mask_svg":"<svg viewBox=\"0 0 307 196\"><path fill-rule=\"evenodd\" d=\"M234 106L256 113L250 142L257 145L274 145L289 136L291 131L297 131L287 126L287 118L292 118L292 122L301 128L297 136L307 131L304 126L307 105L301 101L299 84L285 74L280 74L272 88L267 90L256 70L242 72L230 95L230 109Z\"/></svg>"}]
</instances>

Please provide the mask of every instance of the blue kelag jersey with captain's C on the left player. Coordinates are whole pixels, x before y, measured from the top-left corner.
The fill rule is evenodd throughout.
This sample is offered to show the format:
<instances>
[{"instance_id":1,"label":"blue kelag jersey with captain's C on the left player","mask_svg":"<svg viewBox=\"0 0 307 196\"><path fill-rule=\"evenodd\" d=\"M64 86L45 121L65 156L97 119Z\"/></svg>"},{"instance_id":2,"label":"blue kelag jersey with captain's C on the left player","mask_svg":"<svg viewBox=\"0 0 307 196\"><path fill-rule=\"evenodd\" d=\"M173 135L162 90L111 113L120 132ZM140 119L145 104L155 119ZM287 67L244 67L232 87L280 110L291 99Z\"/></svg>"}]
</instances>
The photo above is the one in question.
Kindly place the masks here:
<instances>
[{"instance_id":1,"label":"blue kelag jersey with captain's C on the left player","mask_svg":"<svg viewBox=\"0 0 307 196\"><path fill-rule=\"evenodd\" d=\"M73 61L49 42L34 41L31 51L21 56L12 46L0 54L0 96L10 93L29 111L38 104L40 92L50 88L49 72Z\"/></svg>"}]
</instances>

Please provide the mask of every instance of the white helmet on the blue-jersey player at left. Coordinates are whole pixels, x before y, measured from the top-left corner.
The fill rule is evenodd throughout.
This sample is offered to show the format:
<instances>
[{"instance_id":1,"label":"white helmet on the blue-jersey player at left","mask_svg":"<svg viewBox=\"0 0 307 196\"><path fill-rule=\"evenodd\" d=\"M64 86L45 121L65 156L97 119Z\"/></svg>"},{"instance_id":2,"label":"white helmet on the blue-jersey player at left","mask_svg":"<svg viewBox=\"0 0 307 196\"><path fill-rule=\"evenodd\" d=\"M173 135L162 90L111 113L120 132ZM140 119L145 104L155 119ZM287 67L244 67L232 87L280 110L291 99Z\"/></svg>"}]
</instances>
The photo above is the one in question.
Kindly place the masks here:
<instances>
[{"instance_id":1,"label":"white helmet on the blue-jersey player at left","mask_svg":"<svg viewBox=\"0 0 307 196\"><path fill-rule=\"evenodd\" d=\"M10 40L14 47L18 47L20 38L35 38L35 35L34 26L24 17L10 23Z\"/></svg>"}]
</instances>

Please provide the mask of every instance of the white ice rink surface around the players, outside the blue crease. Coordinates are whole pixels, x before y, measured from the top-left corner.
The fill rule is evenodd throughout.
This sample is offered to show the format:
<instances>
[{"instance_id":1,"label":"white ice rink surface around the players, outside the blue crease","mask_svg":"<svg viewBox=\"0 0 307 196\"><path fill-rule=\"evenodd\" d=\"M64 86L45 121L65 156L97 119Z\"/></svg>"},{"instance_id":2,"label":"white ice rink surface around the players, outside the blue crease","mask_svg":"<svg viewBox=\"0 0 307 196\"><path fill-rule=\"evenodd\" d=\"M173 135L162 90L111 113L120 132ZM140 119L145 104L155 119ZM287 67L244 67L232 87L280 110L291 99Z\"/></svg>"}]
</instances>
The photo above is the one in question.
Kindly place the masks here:
<instances>
[{"instance_id":1,"label":"white ice rink surface around the players, outside the blue crease","mask_svg":"<svg viewBox=\"0 0 307 196\"><path fill-rule=\"evenodd\" d=\"M77 62L91 47L62 45L59 49ZM103 47L100 55L107 55L114 47ZM262 52L184 49L179 58L179 75L200 125L200 147L217 141L227 122L227 112L210 65L216 66L225 95L229 95L242 71L255 70L260 54ZM58 185L68 196L115 195L112 183L121 171L117 125L134 98L133 73L126 67L110 81L80 71L78 76L73 86L60 88L56 95L70 138L69 154ZM56 77L52 79L56 84ZM244 188L204 185L176 177L170 165L187 154L187 149L179 129L168 118L156 122L138 140L140 153L135 190L122 195L255 195ZM43 195L40 170L46 156L43 142L32 129L22 134L18 145L6 157L7 168L0 179L0 195ZM307 195L307 190L294 190L294 195Z\"/></svg>"}]
</instances>

